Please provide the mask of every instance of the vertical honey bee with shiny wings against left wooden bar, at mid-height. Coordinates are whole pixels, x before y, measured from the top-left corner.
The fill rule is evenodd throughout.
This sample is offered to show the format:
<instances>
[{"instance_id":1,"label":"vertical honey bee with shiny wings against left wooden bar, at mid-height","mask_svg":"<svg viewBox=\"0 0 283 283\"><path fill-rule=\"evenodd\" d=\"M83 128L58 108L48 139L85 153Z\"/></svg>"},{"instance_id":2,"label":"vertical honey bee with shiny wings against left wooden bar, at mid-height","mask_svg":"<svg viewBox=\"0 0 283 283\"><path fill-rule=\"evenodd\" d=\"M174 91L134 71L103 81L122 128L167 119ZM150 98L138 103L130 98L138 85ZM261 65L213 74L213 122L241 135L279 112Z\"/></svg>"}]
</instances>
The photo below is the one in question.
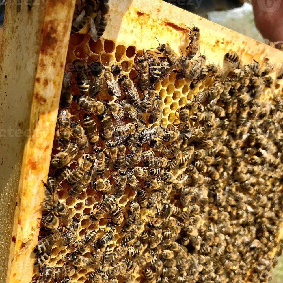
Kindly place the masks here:
<instances>
[{"instance_id":1,"label":"vertical honey bee with shiny wings against left wooden bar, at mid-height","mask_svg":"<svg viewBox=\"0 0 283 283\"><path fill-rule=\"evenodd\" d=\"M66 110L62 109L59 111L56 126L58 128L56 130L58 142L67 145L70 142L71 122L70 114Z\"/></svg>"}]
</instances>

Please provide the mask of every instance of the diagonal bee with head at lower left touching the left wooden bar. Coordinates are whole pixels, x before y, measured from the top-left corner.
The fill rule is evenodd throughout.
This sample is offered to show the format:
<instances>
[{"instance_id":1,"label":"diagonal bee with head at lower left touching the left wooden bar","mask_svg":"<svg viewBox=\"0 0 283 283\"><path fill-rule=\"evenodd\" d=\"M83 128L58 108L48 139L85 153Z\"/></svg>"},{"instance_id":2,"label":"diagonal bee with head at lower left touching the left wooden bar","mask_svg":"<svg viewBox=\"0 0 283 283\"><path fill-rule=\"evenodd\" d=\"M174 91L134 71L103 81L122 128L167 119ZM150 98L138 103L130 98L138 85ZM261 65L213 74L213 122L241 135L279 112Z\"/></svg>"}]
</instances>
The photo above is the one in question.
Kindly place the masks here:
<instances>
[{"instance_id":1,"label":"diagonal bee with head at lower left touching the left wooden bar","mask_svg":"<svg viewBox=\"0 0 283 283\"><path fill-rule=\"evenodd\" d=\"M70 143L66 150L59 152L56 155L52 155L50 165L55 168L62 168L74 159L74 157L78 154L78 151L79 149L77 144Z\"/></svg>"}]
</instances>

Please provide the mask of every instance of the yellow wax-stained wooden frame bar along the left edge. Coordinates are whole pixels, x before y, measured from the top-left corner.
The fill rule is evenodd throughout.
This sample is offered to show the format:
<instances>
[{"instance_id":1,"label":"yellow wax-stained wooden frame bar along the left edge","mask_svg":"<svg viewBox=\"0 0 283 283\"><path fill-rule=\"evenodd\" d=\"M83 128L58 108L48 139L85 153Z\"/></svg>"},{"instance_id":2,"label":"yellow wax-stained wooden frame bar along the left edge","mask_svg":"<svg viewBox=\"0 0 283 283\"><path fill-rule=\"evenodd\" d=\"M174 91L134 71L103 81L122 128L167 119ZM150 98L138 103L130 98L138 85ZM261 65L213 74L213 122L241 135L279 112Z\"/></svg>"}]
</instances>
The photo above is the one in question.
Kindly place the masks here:
<instances>
[{"instance_id":1,"label":"yellow wax-stained wooden frame bar along the left edge","mask_svg":"<svg viewBox=\"0 0 283 283\"><path fill-rule=\"evenodd\" d=\"M29 282L75 1L6 1L1 52L1 282Z\"/></svg>"}]
</instances>

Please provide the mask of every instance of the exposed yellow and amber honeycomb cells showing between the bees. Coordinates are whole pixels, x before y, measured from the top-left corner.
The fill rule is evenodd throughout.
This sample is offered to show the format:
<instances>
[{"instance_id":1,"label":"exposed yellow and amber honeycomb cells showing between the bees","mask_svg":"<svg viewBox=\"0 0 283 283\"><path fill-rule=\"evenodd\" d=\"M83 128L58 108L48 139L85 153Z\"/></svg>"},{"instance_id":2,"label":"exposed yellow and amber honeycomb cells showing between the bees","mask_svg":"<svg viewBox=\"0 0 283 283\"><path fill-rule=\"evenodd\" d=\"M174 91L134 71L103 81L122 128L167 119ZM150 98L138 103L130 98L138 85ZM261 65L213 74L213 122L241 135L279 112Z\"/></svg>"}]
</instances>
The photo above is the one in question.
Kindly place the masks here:
<instances>
[{"instance_id":1,"label":"exposed yellow and amber honeycomb cells showing between the bees","mask_svg":"<svg viewBox=\"0 0 283 283\"><path fill-rule=\"evenodd\" d=\"M142 55L143 55L143 50L137 49L135 46L119 45L111 40L107 40L103 38L100 38L97 42L94 42L92 38L90 38L89 35L75 33L75 34L71 34L70 36L70 43L69 43L68 54L66 58L66 71L67 72L72 71L72 63L77 59L82 60L82 61L87 61L89 64L91 64L93 61L98 60L102 62L105 68L107 67L110 68L113 64L119 64L122 67L122 72L128 75L130 79L133 79L137 75L137 72L133 68L135 66L134 62L137 61L138 56L142 56ZM74 82L73 89L72 89L73 95L80 94L76 86L76 83L75 83L75 78L73 78L73 82ZM162 124L164 128L170 127L172 125L179 125L182 122L179 116L180 108L185 107L185 105L192 105L192 101L197 96L199 91L208 90L211 87L213 87L214 84L215 84L215 81L213 80L213 78L208 77L207 79L199 83L197 86L192 87L190 82L187 82L186 80L177 80L176 73L174 72L172 72L167 78L162 80L160 83L157 83L155 85L155 91L162 98L162 115L160 119L160 124ZM277 95L279 96L280 92L282 93L282 86L279 84L276 84L275 93L273 93L272 90L266 88L265 93L262 92L259 99L271 101L273 99L273 96L277 96ZM107 94L107 92L105 91L105 88L103 88L103 91L100 92L98 96L96 96L96 99L100 101L101 100L109 100L109 101L114 100L113 96L109 96ZM263 106L259 105L258 107L262 107L262 109L265 109L264 107L268 108L270 107L270 105L268 103L263 103ZM69 111L71 114L71 120L72 121L77 120L82 125L83 114L87 112L82 109L79 109L78 106L74 102L72 102L72 105ZM192 110L191 110L191 115L193 115ZM146 121L148 120L148 116L149 114L145 113ZM100 122L98 118L95 116L93 117L95 118L97 122L98 130L101 130L101 127L99 126ZM148 126L156 126L158 124L159 122L156 122L153 125L148 124ZM281 131L282 131L282 128L281 128ZM282 135L281 135L281 139L282 139ZM105 144L102 142L101 139L99 140L98 144L96 144L96 146L100 146L103 150L105 149ZM203 142L203 146L205 148L206 146L205 141ZM149 149L150 149L149 146L144 145L144 150L149 150ZM199 149L201 148L198 148L198 150ZM53 154L57 154L58 152L59 152L59 144L57 143L56 139L54 139ZM81 160L81 157L82 157L82 152L80 151L77 157L74 160L72 160L72 162L69 164L71 169L77 166L78 162ZM225 159L224 153L223 153L223 158ZM256 164L256 163L250 163L250 164ZM281 158L281 164L278 165L278 170L279 168L282 168L281 165L282 165L282 158ZM180 181L183 177L182 174L185 174L184 173L185 170L186 170L186 167L180 168L178 172L174 173L175 178ZM52 175L53 172L54 172L54 168L51 167L49 175ZM220 170L219 174L221 173L223 172L221 172ZM230 174L231 173L232 172L230 172ZM270 180L268 180L266 191L269 193L270 193L270 190L272 191L270 187L274 185L274 183L272 182L273 178L274 179L282 178L282 175L281 177L277 177L276 174L278 175L279 173L277 170L274 169L274 175L271 175ZM105 178L107 177L109 176L108 175L105 176ZM221 181L219 181L217 184L221 188L225 187L225 184L222 183ZM219 206L222 208L221 210L222 212L223 211L225 212L225 210L228 209L227 208L228 206L226 204L223 205L223 202L221 202L221 200L225 198L225 195L226 195L224 193L224 189L221 191L219 190L219 187L218 188L210 187L208 185L201 187L202 195L206 196L203 201L205 202L205 200L207 199L208 207L206 210L201 208L200 213L196 212L194 214L196 227L197 227L197 229L194 232L196 233L194 234L194 236L198 236L198 233L200 234L200 230L199 230L200 227L206 227L205 226L206 224L209 225L209 223L211 222L211 219L213 219L214 217L213 214L215 213L217 214L217 210ZM68 194L69 189L70 189L70 185L67 185L67 183L64 181L57 188L57 196L58 196L59 201L66 203L68 208L73 209L74 216L80 219L79 228L77 229L77 233L73 241L74 242L73 245L71 244L71 245L68 245L67 247L61 247L55 242L51 250L50 259L47 262L50 267L65 266L64 262L68 262L68 257L67 257L68 253L70 253L70 251L74 249L74 246L77 243L83 242L85 232L87 232L88 234L91 231L96 231L96 239L101 239L101 237L105 234L105 231L109 231L109 217L105 216L105 218L100 219L100 221L98 222L90 220L90 213L92 211L97 210L97 205L102 202L103 195L91 189L90 187L87 187L87 189L83 190L83 192L79 194L76 198L73 198L69 196ZM215 198L215 193L213 192L213 189L217 191L216 193L217 198ZM239 184L238 184L237 189L241 192L244 192L241 188L239 188ZM279 193L280 190L282 191L282 185L278 186L278 190L276 191L276 193ZM247 192L244 192L244 193L245 195L248 194ZM251 196L253 196L252 193L251 193ZM130 202L134 199L136 199L136 193L132 191L129 188L129 186L127 186L124 192L124 195L122 196L122 198L120 198L120 200L118 200L118 204L120 208L122 209L122 212L124 215L127 215L127 210L129 209ZM169 202L172 206L181 208L183 212L186 212L186 208L180 202L180 194L178 192L176 193L176 191L173 190L167 202ZM220 205L219 206L215 205L215 202L219 202ZM266 207L266 211L271 211L272 205L273 205L272 201L269 200L268 206ZM201 207L200 204L199 206ZM249 209L252 209L251 206L248 206L248 207ZM158 208L159 210L161 210L162 206L159 205ZM208 212L209 209L211 210L210 212ZM148 211L146 209L141 210L141 219L143 219L141 231L147 226L148 222L152 222L152 217L154 217L154 213L155 212ZM223 213L225 217L227 217L227 214L228 213L226 214ZM282 221L282 214L280 215L280 217L278 217L278 221L279 222ZM276 224L278 224L279 222L277 222ZM223 225L225 225L224 219L223 219L223 223L224 223ZM123 224L115 226L115 230L116 230L115 238L113 241L110 242L110 245L112 245L113 248L118 247L121 244L122 238L125 235L121 232L122 226ZM64 228L65 227L62 226L63 230ZM221 233L223 237L224 237L224 234L225 234L224 232ZM227 233L226 236L228 234L229 233ZM226 236L225 236L225 241L229 238ZM42 235L40 235L40 237L42 237ZM243 235L239 233L239 235L237 235L236 237L238 241L240 241ZM273 238L274 237L275 235L273 235ZM219 237L218 239L215 240L214 245L218 245L219 242L221 241L224 241L224 238ZM236 246L237 241L234 244ZM269 250L267 251L268 252L271 251L274 246L275 246L275 240L273 239L272 245L271 247L269 247ZM229 244L227 240L227 249L228 248L234 249L234 247L232 247L232 245ZM86 250L83 253L83 256L86 258L90 257L91 250L92 248L90 248L90 250ZM190 253L189 248L188 248L188 253ZM144 254L145 254L145 251L142 251L139 254L139 258L142 258ZM202 270L204 269L204 267L211 266L211 262L206 262L203 265L201 265L202 268L198 270L198 275L196 275L194 279L192 279L193 277L189 277L189 274L188 274L187 279L185 281L177 281L177 279L171 278L169 282L193 282L193 280L195 280L194 282L236 282L234 281L234 279L231 279L231 278L243 278L243 280L247 279L250 282L262 282L260 281L261 275L258 275L260 274L260 272L257 270L260 270L260 267L263 265L261 266L257 265L257 260L259 259L255 258L254 262L250 263L250 266L249 266L250 272L247 272L247 274L243 274L243 272L241 273L241 266L234 266L234 265L228 266L231 262L226 260L224 261L224 266L226 267L226 263L228 262L227 269L230 270L229 276L228 275L226 277L222 276L221 270L215 270L215 273L216 273L215 276L217 276L217 280L218 278L221 278L221 280L219 279L218 281L216 281L215 279L214 281L213 279L208 279L207 274L203 273L204 275L202 275ZM264 260L267 260L267 259L264 259ZM272 267L274 263L271 261L271 258L268 258L268 260L269 260L270 267ZM68 262L68 265L72 266L72 264L70 264L69 262ZM242 263L242 265L244 265L244 263ZM72 278L70 278L69 282L89 282L88 281L89 273L92 271L97 272L96 268L97 268L97 265L90 265L87 267L78 267L76 272L72 275ZM35 267L33 279L37 280L36 278L38 278L38 276L39 276L38 268ZM145 280L143 270L139 270L137 273L133 272L132 276L133 276L133 281L130 281L130 282L144 282ZM268 277L269 277L269 274L266 274L264 278L268 278ZM123 281L121 277L118 277L118 281L126 282L126 281ZM111 281L107 281L107 282L116 282L116 281L112 279ZM145 282L154 282L154 281L145 281ZM162 281L162 282L166 282L166 281ZM243 282L243 281L239 280L237 282Z\"/></svg>"}]
</instances>

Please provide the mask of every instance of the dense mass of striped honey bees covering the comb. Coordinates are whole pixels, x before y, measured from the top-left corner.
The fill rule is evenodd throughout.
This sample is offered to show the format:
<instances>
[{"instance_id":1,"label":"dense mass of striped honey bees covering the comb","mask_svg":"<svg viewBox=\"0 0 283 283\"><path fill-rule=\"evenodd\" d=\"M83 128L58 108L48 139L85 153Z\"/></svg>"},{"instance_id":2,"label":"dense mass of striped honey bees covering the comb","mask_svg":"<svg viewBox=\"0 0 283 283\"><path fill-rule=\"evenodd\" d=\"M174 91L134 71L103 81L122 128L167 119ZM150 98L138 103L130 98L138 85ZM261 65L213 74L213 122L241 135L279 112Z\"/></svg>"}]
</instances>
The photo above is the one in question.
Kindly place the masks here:
<instances>
[{"instance_id":1,"label":"dense mass of striped honey bees covering the comb","mask_svg":"<svg viewBox=\"0 0 283 283\"><path fill-rule=\"evenodd\" d=\"M90 20L97 40L97 16L102 23L108 11L100 6L93 17L90 3L72 31ZM100 57L75 60L64 73L34 282L77 282L78 274L90 283L272 278L283 209L283 101L259 98L283 79L283 68L273 79L267 61L244 65L234 52L223 68L206 64L197 57L200 30L188 35L181 57L168 43L137 56L132 79ZM156 85L174 73L191 90L211 87L188 97L180 124L165 127ZM76 213L62 190L68 199L93 191L94 205ZM90 225L81 230L83 221ZM53 254L55 247L64 252Z\"/></svg>"}]
</instances>

